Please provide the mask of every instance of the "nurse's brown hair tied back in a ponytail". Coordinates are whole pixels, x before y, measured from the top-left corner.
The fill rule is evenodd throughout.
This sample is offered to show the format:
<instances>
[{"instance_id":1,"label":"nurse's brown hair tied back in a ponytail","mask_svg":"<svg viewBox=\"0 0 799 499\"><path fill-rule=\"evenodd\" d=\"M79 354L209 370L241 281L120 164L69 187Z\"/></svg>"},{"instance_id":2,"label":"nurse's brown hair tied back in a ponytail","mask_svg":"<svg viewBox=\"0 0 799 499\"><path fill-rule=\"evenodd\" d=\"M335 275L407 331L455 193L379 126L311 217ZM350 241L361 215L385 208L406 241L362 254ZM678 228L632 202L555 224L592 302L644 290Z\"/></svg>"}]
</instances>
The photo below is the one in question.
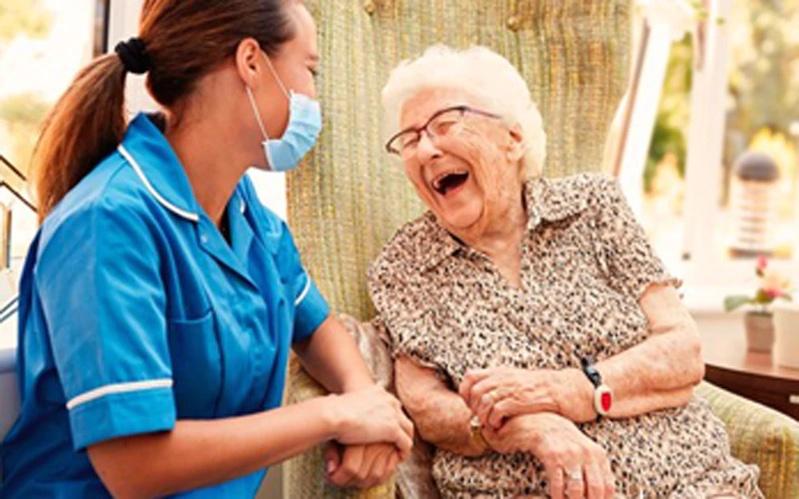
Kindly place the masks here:
<instances>
[{"instance_id":1,"label":"nurse's brown hair tied back in a ponytail","mask_svg":"<svg viewBox=\"0 0 799 499\"><path fill-rule=\"evenodd\" d=\"M273 55L294 36L288 3L145 0L138 38L147 61L140 72L149 70L150 94L174 111L202 76L235 55L245 38L254 38ZM78 73L47 116L33 155L40 221L122 141L127 72L117 53L98 57Z\"/></svg>"}]
</instances>

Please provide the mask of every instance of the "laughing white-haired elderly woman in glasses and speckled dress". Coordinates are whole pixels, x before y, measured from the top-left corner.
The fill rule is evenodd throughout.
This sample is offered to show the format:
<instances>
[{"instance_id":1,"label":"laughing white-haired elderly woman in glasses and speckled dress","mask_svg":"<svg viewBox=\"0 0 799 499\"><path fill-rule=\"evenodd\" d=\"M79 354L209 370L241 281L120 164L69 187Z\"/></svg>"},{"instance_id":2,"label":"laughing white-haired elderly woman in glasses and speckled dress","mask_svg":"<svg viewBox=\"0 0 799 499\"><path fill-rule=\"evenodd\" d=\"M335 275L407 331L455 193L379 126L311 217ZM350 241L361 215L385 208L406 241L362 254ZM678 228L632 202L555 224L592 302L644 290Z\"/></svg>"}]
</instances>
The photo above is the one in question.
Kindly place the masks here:
<instances>
[{"instance_id":1,"label":"laughing white-haired elderly woman in glasses and speckled dress","mask_svg":"<svg viewBox=\"0 0 799 499\"><path fill-rule=\"evenodd\" d=\"M762 497L693 395L697 329L611 179L540 176L513 66L433 47L383 90L429 211L369 289L444 497Z\"/></svg>"}]
</instances>

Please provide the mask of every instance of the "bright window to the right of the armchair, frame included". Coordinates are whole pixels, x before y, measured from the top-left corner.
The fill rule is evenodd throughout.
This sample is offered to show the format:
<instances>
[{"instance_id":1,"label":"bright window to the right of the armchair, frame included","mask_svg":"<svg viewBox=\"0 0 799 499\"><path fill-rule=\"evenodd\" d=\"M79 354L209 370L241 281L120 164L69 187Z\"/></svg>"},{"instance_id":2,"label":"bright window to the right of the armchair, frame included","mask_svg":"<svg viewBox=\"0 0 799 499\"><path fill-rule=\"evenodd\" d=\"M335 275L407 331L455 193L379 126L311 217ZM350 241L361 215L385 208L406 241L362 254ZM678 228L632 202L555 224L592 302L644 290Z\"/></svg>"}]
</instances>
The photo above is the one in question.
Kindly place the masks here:
<instances>
[{"instance_id":1,"label":"bright window to the right of the armchair, frame included","mask_svg":"<svg viewBox=\"0 0 799 499\"><path fill-rule=\"evenodd\" d=\"M692 8L654 55L663 90L625 189L658 253L720 306L759 254L799 282L799 0Z\"/></svg>"}]
</instances>

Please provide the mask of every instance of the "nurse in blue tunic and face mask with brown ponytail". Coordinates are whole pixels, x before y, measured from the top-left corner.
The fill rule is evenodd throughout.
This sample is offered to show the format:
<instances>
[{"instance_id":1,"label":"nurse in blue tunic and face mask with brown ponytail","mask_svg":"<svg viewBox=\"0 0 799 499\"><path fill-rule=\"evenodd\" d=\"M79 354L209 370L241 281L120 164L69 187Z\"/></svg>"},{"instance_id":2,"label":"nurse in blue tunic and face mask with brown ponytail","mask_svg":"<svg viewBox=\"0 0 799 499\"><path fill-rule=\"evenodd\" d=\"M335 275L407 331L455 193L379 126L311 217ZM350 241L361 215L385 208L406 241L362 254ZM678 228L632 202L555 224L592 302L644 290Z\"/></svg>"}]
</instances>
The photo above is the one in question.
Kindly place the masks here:
<instances>
[{"instance_id":1,"label":"nurse in blue tunic and face mask with brown ponytail","mask_svg":"<svg viewBox=\"0 0 799 499\"><path fill-rule=\"evenodd\" d=\"M408 455L399 402L244 175L313 146L317 64L299 1L145 0L140 36L77 75L34 158L0 495L251 497L322 442L331 481L368 486ZM163 111L126 127L127 73ZM333 395L280 407L290 349Z\"/></svg>"}]
</instances>

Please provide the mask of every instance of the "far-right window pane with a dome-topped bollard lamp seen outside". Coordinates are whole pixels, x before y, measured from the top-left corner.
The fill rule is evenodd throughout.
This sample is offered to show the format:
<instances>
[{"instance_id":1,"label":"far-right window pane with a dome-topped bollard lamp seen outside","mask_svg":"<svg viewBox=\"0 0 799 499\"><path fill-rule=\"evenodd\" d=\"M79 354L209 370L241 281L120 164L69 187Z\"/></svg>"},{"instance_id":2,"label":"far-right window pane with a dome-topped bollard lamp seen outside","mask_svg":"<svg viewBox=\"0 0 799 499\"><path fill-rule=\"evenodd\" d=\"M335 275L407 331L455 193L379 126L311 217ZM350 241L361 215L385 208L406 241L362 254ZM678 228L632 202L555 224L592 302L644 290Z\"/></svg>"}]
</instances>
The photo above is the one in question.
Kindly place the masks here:
<instances>
[{"instance_id":1,"label":"far-right window pane with a dome-topped bollard lamp seen outside","mask_svg":"<svg viewBox=\"0 0 799 499\"><path fill-rule=\"evenodd\" d=\"M799 251L797 23L799 0L733 4L714 248L722 258L762 252L790 261Z\"/></svg>"}]
</instances>

